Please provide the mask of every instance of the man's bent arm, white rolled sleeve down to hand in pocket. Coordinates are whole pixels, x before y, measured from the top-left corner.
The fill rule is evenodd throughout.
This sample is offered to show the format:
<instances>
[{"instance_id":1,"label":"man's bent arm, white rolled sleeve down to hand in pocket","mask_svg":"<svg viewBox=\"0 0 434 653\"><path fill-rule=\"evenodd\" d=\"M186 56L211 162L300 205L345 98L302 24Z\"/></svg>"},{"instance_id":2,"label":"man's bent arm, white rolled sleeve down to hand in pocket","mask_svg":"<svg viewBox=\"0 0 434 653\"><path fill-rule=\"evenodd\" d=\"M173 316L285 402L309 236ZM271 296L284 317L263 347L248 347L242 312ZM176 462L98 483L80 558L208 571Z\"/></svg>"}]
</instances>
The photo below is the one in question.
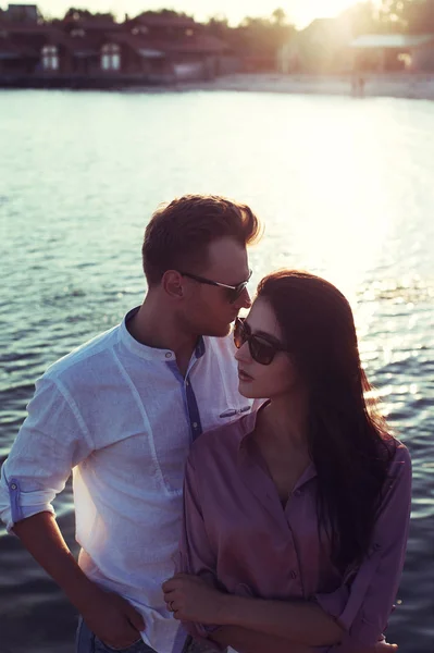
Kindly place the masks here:
<instances>
[{"instance_id":1,"label":"man's bent arm, white rolled sleeve down to hand in pocket","mask_svg":"<svg viewBox=\"0 0 434 653\"><path fill-rule=\"evenodd\" d=\"M94 442L74 398L49 378L37 381L27 411L1 468L0 517L64 590L89 628L114 648L124 648L138 639L141 617L123 599L87 579L66 546L51 505L72 468L94 452Z\"/></svg>"}]
</instances>

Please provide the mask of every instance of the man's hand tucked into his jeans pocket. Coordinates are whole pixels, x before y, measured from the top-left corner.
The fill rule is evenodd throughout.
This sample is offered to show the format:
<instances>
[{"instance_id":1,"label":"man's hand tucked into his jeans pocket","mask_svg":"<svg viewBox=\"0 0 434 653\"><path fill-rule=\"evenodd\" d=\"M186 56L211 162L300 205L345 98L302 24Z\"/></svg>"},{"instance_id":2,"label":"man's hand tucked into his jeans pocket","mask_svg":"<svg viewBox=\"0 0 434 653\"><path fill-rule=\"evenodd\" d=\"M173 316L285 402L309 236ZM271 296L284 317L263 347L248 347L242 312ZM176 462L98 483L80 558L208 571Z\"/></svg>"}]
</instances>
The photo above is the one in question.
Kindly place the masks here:
<instances>
[{"instance_id":1,"label":"man's hand tucked into his jeans pocket","mask_svg":"<svg viewBox=\"0 0 434 653\"><path fill-rule=\"evenodd\" d=\"M80 612L95 634L113 649L126 649L140 639L145 630L141 615L122 596L96 588Z\"/></svg>"}]
</instances>

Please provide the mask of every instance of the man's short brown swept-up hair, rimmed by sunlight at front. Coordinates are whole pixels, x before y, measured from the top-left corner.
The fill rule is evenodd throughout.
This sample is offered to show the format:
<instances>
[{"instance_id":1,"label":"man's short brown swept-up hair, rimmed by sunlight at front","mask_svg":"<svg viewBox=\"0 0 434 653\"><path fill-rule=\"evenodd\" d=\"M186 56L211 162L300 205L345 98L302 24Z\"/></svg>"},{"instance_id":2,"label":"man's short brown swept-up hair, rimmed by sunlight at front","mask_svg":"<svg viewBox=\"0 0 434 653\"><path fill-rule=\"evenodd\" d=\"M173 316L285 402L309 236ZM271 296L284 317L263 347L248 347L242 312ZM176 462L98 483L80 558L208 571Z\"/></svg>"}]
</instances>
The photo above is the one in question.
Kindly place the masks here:
<instances>
[{"instance_id":1,"label":"man's short brown swept-up hair, rimmed by sunlight at front","mask_svg":"<svg viewBox=\"0 0 434 653\"><path fill-rule=\"evenodd\" d=\"M261 225L247 205L214 195L185 195L153 213L141 248L148 285L160 283L168 270L200 271L208 247L228 236L247 246L260 236Z\"/></svg>"}]
</instances>

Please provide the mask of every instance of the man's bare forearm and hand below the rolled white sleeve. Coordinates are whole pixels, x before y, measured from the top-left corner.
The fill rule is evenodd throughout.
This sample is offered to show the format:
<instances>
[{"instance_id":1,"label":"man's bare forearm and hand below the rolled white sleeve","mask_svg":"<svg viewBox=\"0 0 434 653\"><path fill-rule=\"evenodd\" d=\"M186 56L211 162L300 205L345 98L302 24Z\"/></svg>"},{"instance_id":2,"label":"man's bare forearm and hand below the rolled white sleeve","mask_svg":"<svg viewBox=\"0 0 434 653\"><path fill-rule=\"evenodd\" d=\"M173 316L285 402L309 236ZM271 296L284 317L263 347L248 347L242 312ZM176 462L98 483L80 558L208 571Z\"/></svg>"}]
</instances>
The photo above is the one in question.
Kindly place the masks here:
<instances>
[{"instance_id":1,"label":"man's bare forearm and hand below the rolled white sleeve","mask_svg":"<svg viewBox=\"0 0 434 653\"><path fill-rule=\"evenodd\" d=\"M103 642L124 649L144 630L142 617L121 596L104 592L77 565L50 513L18 521L13 532L61 587L86 624Z\"/></svg>"}]
</instances>

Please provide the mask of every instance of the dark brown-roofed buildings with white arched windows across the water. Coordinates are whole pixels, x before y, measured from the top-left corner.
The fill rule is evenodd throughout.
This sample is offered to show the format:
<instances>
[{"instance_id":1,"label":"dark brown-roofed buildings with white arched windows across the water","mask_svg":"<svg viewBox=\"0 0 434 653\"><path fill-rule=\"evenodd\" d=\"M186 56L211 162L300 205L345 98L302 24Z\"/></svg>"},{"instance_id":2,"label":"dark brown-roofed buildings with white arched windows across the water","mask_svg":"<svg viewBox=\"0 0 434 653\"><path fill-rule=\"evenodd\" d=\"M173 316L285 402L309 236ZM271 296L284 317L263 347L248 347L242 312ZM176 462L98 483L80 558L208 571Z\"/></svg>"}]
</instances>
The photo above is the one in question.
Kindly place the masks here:
<instances>
[{"instance_id":1,"label":"dark brown-roofed buildings with white arched windows across the water","mask_svg":"<svg viewBox=\"0 0 434 653\"><path fill-rule=\"evenodd\" d=\"M79 15L46 24L0 17L3 86L110 87L209 79L226 71L228 59L225 42L176 14L145 13L126 16L124 23Z\"/></svg>"}]
</instances>

